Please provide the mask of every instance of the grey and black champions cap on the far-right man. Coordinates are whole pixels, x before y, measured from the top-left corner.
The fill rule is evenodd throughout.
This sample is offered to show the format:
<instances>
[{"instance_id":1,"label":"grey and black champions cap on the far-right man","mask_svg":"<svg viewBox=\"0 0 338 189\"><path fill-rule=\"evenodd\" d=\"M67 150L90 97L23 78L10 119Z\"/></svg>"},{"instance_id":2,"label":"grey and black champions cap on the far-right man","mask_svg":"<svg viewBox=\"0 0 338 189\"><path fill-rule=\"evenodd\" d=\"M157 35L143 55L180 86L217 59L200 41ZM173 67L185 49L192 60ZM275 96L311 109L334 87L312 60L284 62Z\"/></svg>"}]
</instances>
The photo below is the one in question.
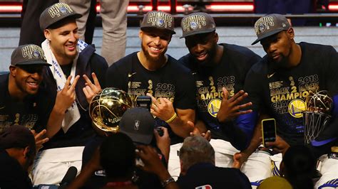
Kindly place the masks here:
<instances>
[{"instance_id":1,"label":"grey and black champions cap on the far-right man","mask_svg":"<svg viewBox=\"0 0 338 189\"><path fill-rule=\"evenodd\" d=\"M272 13L267 16L263 16L255 23L257 39L251 45L255 45L256 43L262 41L262 39L275 35L276 33L280 33L280 31L288 30L290 27L291 26L289 21L287 21L287 18L281 14Z\"/></svg>"}]
</instances>

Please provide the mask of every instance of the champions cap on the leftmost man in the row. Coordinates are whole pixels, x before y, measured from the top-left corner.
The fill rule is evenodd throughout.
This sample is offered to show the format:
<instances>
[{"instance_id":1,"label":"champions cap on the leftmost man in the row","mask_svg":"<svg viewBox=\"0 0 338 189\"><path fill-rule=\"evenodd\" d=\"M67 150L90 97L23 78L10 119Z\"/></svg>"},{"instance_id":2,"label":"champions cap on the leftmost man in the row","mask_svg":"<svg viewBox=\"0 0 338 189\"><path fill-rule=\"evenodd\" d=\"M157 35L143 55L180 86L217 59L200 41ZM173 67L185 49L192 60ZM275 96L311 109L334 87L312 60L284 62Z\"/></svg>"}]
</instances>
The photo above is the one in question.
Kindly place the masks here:
<instances>
[{"instance_id":1,"label":"champions cap on the leftmost man in the row","mask_svg":"<svg viewBox=\"0 0 338 189\"><path fill-rule=\"evenodd\" d=\"M43 50L38 45L20 45L11 53L11 65L48 65Z\"/></svg>"}]
</instances>

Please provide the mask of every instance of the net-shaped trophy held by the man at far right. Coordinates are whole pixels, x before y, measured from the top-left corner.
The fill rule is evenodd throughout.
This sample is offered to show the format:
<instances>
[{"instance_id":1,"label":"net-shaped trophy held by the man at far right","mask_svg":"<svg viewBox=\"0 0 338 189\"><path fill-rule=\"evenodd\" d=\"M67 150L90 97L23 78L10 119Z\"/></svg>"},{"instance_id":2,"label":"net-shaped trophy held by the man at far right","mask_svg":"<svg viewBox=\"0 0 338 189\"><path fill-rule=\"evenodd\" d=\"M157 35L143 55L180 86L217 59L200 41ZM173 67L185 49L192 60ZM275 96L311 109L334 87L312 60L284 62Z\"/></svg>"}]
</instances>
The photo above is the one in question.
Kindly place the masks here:
<instances>
[{"instance_id":1,"label":"net-shaped trophy held by the man at far right","mask_svg":"<svg viewBox=\"0 0 338 189\"><path fill-rule=\"evenodd\" d=\"M306 100L307 109L303 112L305 144L317 139L329 123L333 100L327 91L309 92Z\"/></svg>"}]
</instances>

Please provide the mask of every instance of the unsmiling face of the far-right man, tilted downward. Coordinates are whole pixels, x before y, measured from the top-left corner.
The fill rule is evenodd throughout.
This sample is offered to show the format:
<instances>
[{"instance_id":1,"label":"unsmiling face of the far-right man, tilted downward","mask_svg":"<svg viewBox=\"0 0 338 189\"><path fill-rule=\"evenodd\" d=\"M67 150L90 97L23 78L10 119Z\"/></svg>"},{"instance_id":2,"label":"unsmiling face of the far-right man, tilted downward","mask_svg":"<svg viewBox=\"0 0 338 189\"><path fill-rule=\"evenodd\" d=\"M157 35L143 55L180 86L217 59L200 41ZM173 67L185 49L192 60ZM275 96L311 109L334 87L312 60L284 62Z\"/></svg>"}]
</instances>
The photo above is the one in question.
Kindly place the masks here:
<instances>
[{"instance_id":1,"label":"unsmiling face of the far-right man, tilted downward","mask_svg":"<svg viewBox=\"0 0 338 189\"><path fill-rule=\"evenodd\" d=\"M260 41L267 56L275 63L275 67L287 67L292 53L292 41L294 33L290 28L287 31L281 31L273 36L267 37Z\"/></svg>"}]
</instances>

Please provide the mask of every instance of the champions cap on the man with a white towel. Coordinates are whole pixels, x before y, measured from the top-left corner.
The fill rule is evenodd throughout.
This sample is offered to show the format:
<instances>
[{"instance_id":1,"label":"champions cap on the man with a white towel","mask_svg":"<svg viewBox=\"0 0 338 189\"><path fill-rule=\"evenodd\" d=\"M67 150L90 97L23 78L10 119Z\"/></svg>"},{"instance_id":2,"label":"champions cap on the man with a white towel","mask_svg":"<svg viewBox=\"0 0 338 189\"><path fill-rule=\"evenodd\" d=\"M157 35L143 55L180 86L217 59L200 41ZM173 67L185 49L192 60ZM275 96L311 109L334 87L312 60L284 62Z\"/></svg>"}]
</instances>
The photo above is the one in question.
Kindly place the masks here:
<instances>
[{"instance_id":1,"label":"champions cap on the man with a white towel","mask_svg":"<svg viewBox=\"0 0 338 189\"><path fill-rule=\"evenodd\" d=\"M80 18L82 15L76 13L71 9L71 6L68 4L57 3L49 6L45 9L40 15L40 28L44 30L51 26L53 23L63 20L73 16L74 18Z\"/></svg>"}]
</instances>

